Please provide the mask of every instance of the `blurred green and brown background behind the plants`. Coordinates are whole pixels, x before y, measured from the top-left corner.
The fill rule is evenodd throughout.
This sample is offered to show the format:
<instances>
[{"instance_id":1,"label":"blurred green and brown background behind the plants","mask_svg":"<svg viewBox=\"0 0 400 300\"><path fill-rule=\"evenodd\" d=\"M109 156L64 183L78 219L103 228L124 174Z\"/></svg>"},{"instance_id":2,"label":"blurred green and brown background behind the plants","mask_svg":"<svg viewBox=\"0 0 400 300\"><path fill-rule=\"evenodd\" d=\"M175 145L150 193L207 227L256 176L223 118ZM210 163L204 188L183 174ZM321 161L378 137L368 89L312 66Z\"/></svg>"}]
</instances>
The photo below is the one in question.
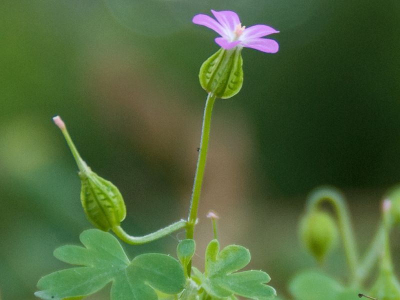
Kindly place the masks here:
<instances>
[{"instance_id":1,"label":"blurred green and brown background behind the plants","mask_svg":"<svg viewBox=\"0 0 400 300\"><path fill-rule=\"evenodd\" d=\"M211 8L280 30L280 49L244 49L240 93L214 106L195 263L214 209L222 245L248 247L250 267L285 294L296 271L315 267L296 226L320 184L344 191L367 245L382 194L400 181L400 1L3 0L1 299L34 299L40 276L66 266L53 249L91 227L55 114L124 195L129 233L186 216L206 96L197 74L217 50L216 33L191 18ZM174 255L183 237L125 249ZM345 278L342 251L323 268ZM107 299L108 288L89 298Z\"/></svg>"}]
</instances>

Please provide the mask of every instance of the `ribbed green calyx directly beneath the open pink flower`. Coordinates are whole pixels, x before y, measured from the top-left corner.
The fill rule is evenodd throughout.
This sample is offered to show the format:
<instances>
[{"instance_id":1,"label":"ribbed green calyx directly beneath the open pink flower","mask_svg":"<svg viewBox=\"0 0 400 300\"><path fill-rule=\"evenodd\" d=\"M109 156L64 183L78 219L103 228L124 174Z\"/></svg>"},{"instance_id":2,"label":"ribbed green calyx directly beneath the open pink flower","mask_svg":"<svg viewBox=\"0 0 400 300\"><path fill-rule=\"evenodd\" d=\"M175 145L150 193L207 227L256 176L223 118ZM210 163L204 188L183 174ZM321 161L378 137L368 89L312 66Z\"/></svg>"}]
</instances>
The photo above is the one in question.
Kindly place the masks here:
<instances>
[{"instance_id":1,"label":"ribbed green calyx directly beneath the open pink flower","mask_svg":"<svg viewBox=\"0 0 400 300\"><path fill-rule=\"evenodd\" d=\"M200 85L217 98L230 98L243 84L241 47L220 48L203 62L198 78Z\"/></svg>"}]
</instances>

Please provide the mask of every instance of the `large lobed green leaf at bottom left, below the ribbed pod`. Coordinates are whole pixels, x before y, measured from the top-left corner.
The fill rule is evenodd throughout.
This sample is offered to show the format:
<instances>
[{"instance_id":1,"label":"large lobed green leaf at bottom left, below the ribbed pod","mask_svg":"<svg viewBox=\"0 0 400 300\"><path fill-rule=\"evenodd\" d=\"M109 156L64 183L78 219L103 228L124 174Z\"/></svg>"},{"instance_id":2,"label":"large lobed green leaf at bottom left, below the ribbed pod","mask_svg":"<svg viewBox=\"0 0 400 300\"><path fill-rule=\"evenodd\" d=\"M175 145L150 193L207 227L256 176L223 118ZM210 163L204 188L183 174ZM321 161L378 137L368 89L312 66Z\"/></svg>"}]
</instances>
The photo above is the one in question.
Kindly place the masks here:
<instances>
[{"instance_id":1,"label":"large lobed green leaf at bottom left, below the ribbed pod","mask_svg":"<svg viewBox=\"0 0 400 300\"><path fill-rule=\"evenodd\" d=\"M35 292L44 300L80 299L112 282L111 300L157 300L157 292L177 294L185 278L180 263L160 253L141 254L129 261L118 240L98 229L83 231L84 247L65 245L54 256L81 265L42 277Z\"/></svg>"}]
</instances>

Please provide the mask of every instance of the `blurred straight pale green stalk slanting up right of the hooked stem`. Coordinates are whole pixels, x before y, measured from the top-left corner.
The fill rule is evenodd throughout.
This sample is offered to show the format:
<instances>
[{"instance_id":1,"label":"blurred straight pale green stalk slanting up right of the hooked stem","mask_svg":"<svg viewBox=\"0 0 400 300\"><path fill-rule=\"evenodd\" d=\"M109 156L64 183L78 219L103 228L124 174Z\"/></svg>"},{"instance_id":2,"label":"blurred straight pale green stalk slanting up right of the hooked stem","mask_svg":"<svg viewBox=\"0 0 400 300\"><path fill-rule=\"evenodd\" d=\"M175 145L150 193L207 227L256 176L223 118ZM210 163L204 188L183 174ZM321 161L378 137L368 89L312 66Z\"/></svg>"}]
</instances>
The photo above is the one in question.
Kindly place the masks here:
<instances>
[{"instance_id":1,"label":"blurred straight pale green stalk slanting up right of the hooked stem","mask_svg":"<svg viewBox=\"0 0 400 300\"><path fill-rule=\"evenodd\" d=\"M359 267L358 267L358 279L362 283L372 269L373 264L376 262L378 256L382 252L382 247L385 243L385 226L383 223L379 224L378 230L375 233L375 237L371 242L367 252L365 253Z\"/></svg>"}]
</instances>

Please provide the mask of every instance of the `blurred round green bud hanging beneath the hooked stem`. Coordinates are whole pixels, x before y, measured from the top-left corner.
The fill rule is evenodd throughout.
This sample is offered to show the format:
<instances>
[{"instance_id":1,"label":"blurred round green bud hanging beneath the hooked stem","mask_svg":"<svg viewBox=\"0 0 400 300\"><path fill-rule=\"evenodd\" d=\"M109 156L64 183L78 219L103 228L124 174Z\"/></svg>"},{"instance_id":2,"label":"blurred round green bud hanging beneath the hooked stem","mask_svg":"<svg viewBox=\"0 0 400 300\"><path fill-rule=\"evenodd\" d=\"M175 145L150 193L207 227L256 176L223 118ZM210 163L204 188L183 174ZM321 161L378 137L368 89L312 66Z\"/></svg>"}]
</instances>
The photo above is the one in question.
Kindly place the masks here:
<instances>
[{"instance_id":1,"label":"blurred round green bud hanging beneath the hooked stem","mask_svg":"<svg viewBox=\"0 0 400 300\"><path fill-rule=\"evenodd\" d=\"M333 218L324 211L312 211L300 221L300 238L305 248L322 262L337 241L338 230Z\"/></svg>"}]
</instances>

